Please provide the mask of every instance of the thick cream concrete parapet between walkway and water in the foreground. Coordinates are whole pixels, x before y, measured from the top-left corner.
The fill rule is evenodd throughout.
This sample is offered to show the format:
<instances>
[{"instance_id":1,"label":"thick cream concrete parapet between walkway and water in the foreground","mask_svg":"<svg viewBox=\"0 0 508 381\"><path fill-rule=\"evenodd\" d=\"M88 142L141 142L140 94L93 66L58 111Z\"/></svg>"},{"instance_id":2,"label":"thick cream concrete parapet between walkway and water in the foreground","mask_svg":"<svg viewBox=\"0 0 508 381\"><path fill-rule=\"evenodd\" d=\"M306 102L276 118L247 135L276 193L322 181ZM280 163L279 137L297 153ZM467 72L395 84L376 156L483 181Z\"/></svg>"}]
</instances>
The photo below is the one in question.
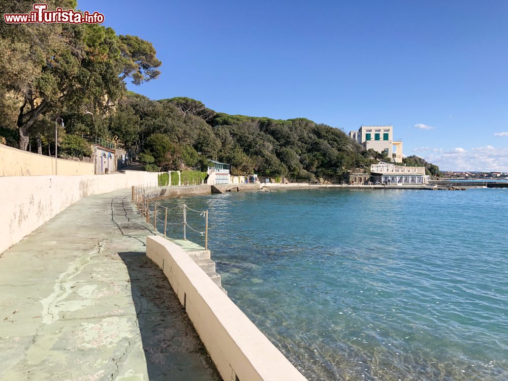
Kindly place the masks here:
<instances>
[{"instance_id":1,"label":"thick cream concrete parapet between walkway and water in the foreground","mask_svg":"<svg viewBox=\"0 0 508 381\"><path fill-rule=\"evenodd\" d=\"M146 255L163 270L225 380L306 379L181 247L149 236Z\"/></svg>"}]
</instances>

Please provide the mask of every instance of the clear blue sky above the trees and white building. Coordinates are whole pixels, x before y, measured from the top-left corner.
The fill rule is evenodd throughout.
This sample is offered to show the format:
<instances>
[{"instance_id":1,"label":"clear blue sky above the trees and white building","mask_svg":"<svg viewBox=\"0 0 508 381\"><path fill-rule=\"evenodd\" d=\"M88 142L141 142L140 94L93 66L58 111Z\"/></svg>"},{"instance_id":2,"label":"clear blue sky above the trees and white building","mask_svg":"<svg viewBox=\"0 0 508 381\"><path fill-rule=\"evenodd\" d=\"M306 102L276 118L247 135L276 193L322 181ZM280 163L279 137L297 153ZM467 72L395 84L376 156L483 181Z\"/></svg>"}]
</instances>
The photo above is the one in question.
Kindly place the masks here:
<instances>
[{"instance_id":1,"label":"clear blue sky above the trees and white building","mask_svg":"<svg viewBox=\"0 0 508 381\"><path fill-rule=\"evenodd\" d=\"M391 123L405 155L443 170L508 171L505 0L78 7L153 43L160 78L130 86L151 99L186 96L216 111L306 117L345 132Z\"/></svg>"}]
</instances>

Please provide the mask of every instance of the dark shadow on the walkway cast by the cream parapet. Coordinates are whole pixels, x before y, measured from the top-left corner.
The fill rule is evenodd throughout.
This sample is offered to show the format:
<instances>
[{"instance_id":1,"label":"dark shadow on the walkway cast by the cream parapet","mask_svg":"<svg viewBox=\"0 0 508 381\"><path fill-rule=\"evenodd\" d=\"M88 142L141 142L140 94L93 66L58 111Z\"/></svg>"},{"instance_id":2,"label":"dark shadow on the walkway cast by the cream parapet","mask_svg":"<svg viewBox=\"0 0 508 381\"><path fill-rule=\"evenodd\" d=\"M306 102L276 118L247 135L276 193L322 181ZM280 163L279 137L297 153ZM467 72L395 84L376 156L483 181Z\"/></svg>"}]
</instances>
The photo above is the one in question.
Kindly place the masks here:
<instances>
[{"instance_id":1,"label":"dark shadow on the walkway cast by the cream parapet","mask_svg":"<svg viewBox=\"0 0 508 381\"><path fill-rule=\"evenodd\" d=\"M119 252L131 292L150 380L220 380L168 279L144 252Z\"/></svg>"}]
</instances>

